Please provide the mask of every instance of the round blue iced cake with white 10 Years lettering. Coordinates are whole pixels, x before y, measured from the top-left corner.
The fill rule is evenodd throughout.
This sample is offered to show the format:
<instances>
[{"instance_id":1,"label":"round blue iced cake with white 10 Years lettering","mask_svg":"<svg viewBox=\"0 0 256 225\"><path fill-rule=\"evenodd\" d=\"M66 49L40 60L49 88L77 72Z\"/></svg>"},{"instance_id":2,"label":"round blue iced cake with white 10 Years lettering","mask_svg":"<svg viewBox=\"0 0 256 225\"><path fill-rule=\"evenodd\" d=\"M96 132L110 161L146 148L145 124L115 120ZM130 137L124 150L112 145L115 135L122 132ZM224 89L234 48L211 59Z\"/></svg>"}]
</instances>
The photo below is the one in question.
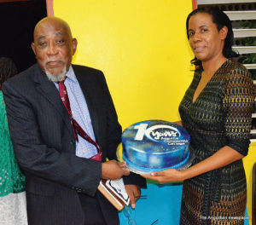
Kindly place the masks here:
<instances>
[{"instance_id":1,"label":"round blue iced cake with white 10 Years lettering","mask_svg":"<svg viewBox=\"0 0 256 225\"><path fill-rule=\"evenodd\" d=\"M189 133L180 125L147 120L132 124L122 134L122 157L138 173L179 169L189 159Z\"/></svg>"}]
</instances>

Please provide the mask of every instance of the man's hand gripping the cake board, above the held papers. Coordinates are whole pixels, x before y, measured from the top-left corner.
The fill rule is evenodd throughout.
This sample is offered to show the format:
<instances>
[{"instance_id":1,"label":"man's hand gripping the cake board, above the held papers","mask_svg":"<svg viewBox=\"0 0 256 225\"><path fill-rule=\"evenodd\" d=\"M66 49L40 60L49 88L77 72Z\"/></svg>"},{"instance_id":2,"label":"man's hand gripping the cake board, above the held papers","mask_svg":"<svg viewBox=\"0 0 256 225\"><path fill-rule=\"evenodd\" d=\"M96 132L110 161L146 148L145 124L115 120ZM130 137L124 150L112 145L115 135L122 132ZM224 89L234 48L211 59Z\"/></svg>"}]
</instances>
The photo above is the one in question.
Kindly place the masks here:
<instances>
[{"instance_id":1,"label":"man's hand gripping the cake board, above the held papers","mask_svg":"<svg viewBox=\"0 0 256 225\"><path fill-rule=\"evenodd\" d=\"M130 170L126 168L126 163L120 163L116 160L110 160L102 163L102 179L116 180L122 176L130 175Z\"/></svg>"}]
</instances>

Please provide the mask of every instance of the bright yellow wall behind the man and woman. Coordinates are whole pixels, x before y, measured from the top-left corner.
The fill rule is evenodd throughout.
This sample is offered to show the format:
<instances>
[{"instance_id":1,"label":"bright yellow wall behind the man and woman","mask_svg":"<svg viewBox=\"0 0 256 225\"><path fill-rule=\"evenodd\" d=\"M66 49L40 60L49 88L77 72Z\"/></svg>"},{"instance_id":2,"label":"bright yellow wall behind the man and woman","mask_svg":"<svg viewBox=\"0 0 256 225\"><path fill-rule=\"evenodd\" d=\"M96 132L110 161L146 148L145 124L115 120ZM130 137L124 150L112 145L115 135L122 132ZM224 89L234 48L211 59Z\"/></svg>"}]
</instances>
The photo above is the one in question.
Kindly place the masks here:
<instances>
[{"instance_id":1,"label":"bright yellow wall behind the man and woman","mask_svg":"<svg viewBox=\"0 0 256 225\"><path fill-rule=\"evenodd\" d=\"M176 121L193 73L185 34L192 1L55 0L55 16L78 38L73 63L101 69L123 128L145 119ZM251 149L253 150L253 149ZM245 159L251 212L254 151Z\"/></svg>"}]
</instances>

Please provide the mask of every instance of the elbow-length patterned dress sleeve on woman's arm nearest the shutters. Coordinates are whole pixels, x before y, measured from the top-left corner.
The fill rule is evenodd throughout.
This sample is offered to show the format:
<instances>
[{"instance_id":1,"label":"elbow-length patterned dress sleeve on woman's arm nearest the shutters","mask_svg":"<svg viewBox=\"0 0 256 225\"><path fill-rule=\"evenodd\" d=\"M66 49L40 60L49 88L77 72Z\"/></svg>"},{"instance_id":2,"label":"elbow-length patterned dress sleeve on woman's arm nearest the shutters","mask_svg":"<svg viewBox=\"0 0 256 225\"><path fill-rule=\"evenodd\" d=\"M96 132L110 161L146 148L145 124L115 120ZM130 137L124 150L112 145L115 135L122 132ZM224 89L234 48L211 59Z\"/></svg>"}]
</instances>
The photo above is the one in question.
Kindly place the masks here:
<instances>
[{"instance_id":1,"label":"elbow-length patterned dress sleeve on woman's arm nearest the shutters","mask_svg":"<svg viewBox=\"0 0 256 225\"><path fill-rule=\"evenodd\" d=\"M246 156L250 144L255 87L247 69L236 67L224 84L225 132L228 146Z\"/></svg>"}]
</instances>

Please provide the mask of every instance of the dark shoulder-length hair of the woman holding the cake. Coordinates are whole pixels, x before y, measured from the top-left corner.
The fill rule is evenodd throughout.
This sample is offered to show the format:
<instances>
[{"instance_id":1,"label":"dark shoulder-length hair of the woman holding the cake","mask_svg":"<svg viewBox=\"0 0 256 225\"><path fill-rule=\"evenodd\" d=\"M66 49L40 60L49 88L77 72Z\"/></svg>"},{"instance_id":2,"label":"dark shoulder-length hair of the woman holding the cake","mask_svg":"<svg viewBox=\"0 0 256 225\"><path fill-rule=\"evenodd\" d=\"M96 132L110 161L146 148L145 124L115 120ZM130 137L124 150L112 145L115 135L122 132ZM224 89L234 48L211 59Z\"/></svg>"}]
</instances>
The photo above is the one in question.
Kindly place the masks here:
<instances>
[{"instance_id":1,"label":"dark shoulder-length hair of the woman holding the cake","mask_svg":"<svg viewBox=\"0 0 256 225\"><path fill-rule=\"evenodd\" d=\"M218 7L206 7L206 8L199 8L192 11L186 20L186 28L187 28L187 37L189 39L189 19L191 16L199 13L206 13L212 15L212 22L216 24L218 31L224 26L228 28L228 34L224 41L224 49L223 49L223 55L226 58L232 58L237 57L238 54L233 51L232 45L234 44L234 33L232 31L232 25L230 18L224 14L223 11L218 9ZM192 64L195 66L201 67L201 61L197 60L196 57L191 61Z\"/></svg>"}]
</instances>

